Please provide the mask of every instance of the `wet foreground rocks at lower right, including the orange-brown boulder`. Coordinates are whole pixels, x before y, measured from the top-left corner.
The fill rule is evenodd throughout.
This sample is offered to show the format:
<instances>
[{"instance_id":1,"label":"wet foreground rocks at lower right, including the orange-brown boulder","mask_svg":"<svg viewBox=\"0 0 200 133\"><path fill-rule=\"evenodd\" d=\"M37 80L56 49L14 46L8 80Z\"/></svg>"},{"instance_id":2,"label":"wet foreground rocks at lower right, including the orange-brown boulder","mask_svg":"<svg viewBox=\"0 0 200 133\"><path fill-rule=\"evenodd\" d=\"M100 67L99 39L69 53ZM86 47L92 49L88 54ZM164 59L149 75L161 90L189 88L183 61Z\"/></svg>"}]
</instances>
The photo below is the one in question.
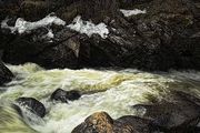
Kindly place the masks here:
<instances>
[{"instance_id":1,"label":"wet foreground rocks at lower right, including the orange-brown boulder","mask_svg":"<svg viewBox=\"0 0 200 133\"><path fill-rule=\"evenodd\" d=\"M144 111L140 116L113 120L106 112L94 113L72 133L198 133L199 99L183 92L174 92L171 98L152 105L134 105L138 113Z\"/></svg>"}]
</instances>

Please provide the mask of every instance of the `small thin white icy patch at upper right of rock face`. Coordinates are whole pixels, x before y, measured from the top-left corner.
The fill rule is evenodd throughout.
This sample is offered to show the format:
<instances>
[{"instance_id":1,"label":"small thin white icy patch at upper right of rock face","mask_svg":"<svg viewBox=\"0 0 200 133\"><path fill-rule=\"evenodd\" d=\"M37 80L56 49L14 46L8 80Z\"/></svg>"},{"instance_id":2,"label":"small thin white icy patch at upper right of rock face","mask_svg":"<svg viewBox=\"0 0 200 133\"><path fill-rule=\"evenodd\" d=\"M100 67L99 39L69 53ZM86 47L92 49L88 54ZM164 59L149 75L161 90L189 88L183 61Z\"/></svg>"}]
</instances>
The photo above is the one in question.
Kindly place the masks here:
<instances>
[{"instance_id":1,"label":"small thin white icy patch at upper right of rock face","mask_svg":"<svg viewBox=\"0 0 200 133\"><path fill-rule=\"evenodd\" d=\"M134 10L121 9L120 11L123 13L124 17L131 17L131 16L137 16L140 13L147 13L147 10L139 10L139 9L134 9Z\"/></svg>"}]
</instances>

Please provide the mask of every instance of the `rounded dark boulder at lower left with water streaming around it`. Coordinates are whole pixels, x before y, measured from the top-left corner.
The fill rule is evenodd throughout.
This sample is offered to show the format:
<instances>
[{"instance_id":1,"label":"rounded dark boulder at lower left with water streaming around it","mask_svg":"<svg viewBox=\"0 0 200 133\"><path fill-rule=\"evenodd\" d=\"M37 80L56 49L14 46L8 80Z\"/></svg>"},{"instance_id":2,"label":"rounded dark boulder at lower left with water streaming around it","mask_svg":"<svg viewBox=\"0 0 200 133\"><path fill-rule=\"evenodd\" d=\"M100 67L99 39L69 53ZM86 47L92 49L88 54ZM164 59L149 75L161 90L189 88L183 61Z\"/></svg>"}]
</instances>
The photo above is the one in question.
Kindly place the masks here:
<instances>
[{"instance_id":1,"label":"rounded dark boulder at lower left with water streaming around it","mask_svg":"<svg viewBox=\"0 0 200 133\"><path fill-rule=\"evenodd\" d=\"M46 115L44 105L33 98L19 98L16 100L16 102L38 116L43 117Z\"/></svg>"}]
</instances>

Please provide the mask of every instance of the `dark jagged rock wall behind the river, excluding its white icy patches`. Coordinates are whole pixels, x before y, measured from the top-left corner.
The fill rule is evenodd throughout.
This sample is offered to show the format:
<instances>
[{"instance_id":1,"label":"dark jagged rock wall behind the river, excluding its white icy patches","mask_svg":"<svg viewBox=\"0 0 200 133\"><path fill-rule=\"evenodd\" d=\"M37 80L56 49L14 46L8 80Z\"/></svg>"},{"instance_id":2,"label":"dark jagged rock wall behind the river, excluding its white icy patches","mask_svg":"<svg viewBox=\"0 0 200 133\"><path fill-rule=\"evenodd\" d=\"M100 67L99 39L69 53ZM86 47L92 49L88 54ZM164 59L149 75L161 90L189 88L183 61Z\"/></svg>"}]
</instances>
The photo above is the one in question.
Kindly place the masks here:
<instances>
[{"instance_id":1,"label":"dark jagged rock wall behind the river, excluding its white icy patches","mask_svg":"<svg viewBox=\"0 0 200 133\"><path fill-rule=\"evenodd\" d=\"M47 28L21 35L2 29L0 49L4 50L3 61L9 63L36 62L48 69L200 70L200 2L197 0L24 0L0 6L1 20L9 16L13 22L18 17L36 21L53 11L67 23L81 14L94 23L104 22L110 31L107 39L98 34L88 38L52 25L54 39L50 42L41 39ZM147 13L126 18L119 8L146 9Z\"/></svg>"}]
</instances>

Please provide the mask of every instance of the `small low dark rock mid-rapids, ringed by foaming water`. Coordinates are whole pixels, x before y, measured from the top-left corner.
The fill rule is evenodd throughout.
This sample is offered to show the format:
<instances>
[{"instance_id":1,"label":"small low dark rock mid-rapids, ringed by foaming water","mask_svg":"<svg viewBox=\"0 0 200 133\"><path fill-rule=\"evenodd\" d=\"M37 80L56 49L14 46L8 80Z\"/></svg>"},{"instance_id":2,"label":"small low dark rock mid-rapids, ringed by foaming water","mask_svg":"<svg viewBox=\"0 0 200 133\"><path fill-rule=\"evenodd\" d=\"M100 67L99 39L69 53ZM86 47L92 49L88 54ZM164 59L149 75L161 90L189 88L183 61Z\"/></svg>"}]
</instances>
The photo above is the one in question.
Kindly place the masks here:
<instances>
[{"instance_id":1,"label":"small low dark rock mid-rapids, ringed by foaming water","mask_svg":"<svg viewBox=\"0 0 200 133\"><path fill-rule=\"evenodd\" d=\"M74 101L74 100L78 100L80 96L81 96L80 92L76 90L64 91L64 90L58 89L51 94L51 100L68 103L68 100Z\"/></svg>"}]
</instances>

